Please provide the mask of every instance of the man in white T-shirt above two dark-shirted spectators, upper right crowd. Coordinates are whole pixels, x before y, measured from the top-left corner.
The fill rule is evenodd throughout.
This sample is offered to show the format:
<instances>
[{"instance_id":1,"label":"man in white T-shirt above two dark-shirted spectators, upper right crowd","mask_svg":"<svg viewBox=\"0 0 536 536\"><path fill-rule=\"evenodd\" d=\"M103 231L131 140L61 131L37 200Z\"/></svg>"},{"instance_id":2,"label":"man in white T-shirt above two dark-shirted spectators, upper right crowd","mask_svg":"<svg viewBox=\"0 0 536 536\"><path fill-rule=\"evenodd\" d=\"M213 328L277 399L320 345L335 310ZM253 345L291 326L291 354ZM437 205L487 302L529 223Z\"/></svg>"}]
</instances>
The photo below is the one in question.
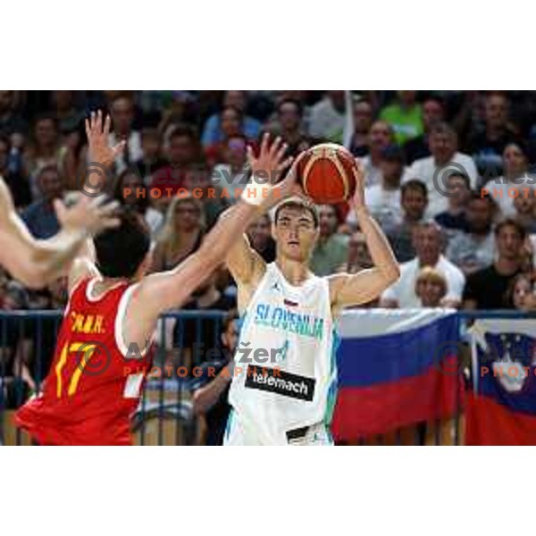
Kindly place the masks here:
<instances>
[{"instance_id":1,"label":"man in white T-shirt above two dark-shirted spectators, upper right crowd","mask_svg":"<svg viewBox=\"0 0 536 536\"><path fill-rule=\"evenodd\" d=\"M431 128L429 145L431 156L415 160L407 176L426 184L430 196L429 214L434 217L448 206L447 197L436 188L436 183L441 185L450 172L456 171L467 175L471 188L476 188L478 174L471 156L457 151L456 132L447 123L438 123Z\"/></svg>"}]
</instances>

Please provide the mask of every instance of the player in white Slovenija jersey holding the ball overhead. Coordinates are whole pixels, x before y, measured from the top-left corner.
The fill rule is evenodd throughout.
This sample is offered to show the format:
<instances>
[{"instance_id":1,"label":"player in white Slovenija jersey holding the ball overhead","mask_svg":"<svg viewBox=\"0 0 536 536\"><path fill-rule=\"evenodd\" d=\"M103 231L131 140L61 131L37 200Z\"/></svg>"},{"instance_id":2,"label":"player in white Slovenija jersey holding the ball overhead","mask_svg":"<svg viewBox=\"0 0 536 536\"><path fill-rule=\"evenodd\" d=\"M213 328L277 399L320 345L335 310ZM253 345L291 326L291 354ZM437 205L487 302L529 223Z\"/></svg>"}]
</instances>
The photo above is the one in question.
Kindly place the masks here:
<instances>
[{"instance_id":1,"label":"player in white Slovenija jersey holding the ball overhead","mask_svg":"<svg viewBox=\"0 0 536 536\"><path fill-rule=\"evenodd\" d=\"M318 216L301 197L276 209L274 263L266 264L246 236L230 250L226 261L245 316L224 444L332 444L335 319L344 307L380 296L399 275L389 242L364 205L363 185L360 171L351 205L373 258L370 270L314 276L308 263L318 238Z\"/></svg>"}]
</instances>

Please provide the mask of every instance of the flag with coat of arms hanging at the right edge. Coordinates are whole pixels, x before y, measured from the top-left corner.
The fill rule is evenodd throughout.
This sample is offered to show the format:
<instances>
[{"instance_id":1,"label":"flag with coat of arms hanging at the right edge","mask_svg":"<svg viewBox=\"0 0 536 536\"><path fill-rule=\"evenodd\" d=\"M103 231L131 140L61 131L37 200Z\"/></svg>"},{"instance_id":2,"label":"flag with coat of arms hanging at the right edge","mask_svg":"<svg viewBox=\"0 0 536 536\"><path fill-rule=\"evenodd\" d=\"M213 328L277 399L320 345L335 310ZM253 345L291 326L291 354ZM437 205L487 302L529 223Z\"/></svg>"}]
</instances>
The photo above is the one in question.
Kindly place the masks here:
<instances>
[{"instance_id":1,"label":"flag with coat of arms hanging at the right edge","mask_svg":"<svg viewBox=\"0 0 536 536\"><path fill-rule=\"evenodd\" d=\"M477 320L465 444L536 445L536 322Z\"/></svg>"}]
</instances>

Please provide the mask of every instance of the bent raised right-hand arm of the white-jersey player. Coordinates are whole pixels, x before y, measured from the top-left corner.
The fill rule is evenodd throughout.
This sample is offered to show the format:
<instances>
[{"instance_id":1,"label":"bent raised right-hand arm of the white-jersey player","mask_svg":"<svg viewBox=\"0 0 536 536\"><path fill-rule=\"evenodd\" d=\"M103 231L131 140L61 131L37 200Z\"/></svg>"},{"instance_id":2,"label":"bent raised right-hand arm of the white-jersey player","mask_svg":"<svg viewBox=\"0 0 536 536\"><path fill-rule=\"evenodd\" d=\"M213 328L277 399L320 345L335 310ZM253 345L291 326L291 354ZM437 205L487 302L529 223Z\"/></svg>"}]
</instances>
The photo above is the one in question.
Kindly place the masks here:
<instances>
[{"instance_id":1,"label":"bent raised right-hand arm of the white-jersey player","mask_svg":"<svg viewBox=\"0 0 536 536\"><path fill-rule=\"evenodd\" d=\"M331 306L336 310L358 306L373 300L400 276L398 262L389 245L389 240L364 205L362 170L359 170L357 174L356 183L356 194L351 205L356 211L357 222L363 231L374 267L352 275L340 273L329 278Z\"/></svg>"}]
</instances>

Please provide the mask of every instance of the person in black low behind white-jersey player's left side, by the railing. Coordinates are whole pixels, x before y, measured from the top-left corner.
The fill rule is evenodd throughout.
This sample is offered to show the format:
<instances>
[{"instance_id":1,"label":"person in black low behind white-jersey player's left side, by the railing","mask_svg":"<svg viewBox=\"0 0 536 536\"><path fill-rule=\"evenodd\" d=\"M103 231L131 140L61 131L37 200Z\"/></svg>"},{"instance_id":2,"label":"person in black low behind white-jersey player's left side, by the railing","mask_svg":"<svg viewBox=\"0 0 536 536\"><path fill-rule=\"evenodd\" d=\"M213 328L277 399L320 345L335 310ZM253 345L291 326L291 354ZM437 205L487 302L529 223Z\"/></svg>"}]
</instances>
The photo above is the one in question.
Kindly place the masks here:
<instances>
[{"instance_id":1,"label":"person in black low behind white-jersey player's left side, by the railing","mask_svg":"<svg viewBox=\"0 0 536 536\"><path fill-rule=\"evenodd\" d=\"M233 376L232 357L239 342L238 315L230 313L222 322L221 356L202 365L202 374L193 385L193 410L205 417L205 445L222 445L230 414L229 388ZM228 367L223 371L224 367Z\"/></svg>"}]
</instances>

